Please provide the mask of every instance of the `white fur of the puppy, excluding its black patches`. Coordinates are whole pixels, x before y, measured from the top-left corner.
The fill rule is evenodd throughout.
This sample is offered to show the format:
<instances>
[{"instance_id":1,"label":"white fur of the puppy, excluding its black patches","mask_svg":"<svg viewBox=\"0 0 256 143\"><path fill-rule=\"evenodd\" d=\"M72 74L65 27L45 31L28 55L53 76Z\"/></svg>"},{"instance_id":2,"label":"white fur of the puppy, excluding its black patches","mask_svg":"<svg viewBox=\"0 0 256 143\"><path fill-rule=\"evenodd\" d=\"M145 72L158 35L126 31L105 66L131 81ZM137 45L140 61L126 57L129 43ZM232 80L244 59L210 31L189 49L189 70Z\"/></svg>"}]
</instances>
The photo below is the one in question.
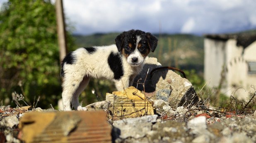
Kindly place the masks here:
<instances>
[{"instance_id":1,"label":"white fur of the puppy, excluding its black patches","mask_svg":"<svg viewBox=\"0 0 256 143\"><path fill-rule=\"evenodd\" d=\"M139 36L138 36L139 37ZM138 38L139 39L139 38ZM138 46L138 42L137 42ZM79 103L78 97L89 83L90 78L108 79L115 83L118 91L127 88L133 84L133 80L137 74L140 73L143 67L144 58L136 50L128 56L122 56L123 76L121 79L114 79L114 73L109 67L108 57L111 52L118 53L116 45L94 47L96 51L89 54L85 48L79 48L72 53L75 57L73 64L63 65L63 108L64 110L71 110L70 102L75 110L84 110ZM132 57L138 57L138 65L130 64Z\"/></svg>"}]
</instances>

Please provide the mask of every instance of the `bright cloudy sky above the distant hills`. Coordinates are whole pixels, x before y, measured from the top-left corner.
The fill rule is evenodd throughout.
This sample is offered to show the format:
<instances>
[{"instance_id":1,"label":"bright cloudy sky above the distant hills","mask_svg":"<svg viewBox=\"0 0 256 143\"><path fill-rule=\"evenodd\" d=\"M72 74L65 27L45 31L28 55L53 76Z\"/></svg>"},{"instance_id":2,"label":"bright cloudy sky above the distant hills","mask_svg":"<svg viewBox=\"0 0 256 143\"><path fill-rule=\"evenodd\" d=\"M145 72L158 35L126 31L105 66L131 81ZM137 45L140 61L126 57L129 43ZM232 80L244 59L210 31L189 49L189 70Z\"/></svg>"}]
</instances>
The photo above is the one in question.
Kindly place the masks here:
<instances>
[{"instance_id":1,"label":"bright cloudy sky above the distant hills","mask_svg":"<svg viewBox=\"0 0 256 143\"><path fill-rule=\"evenodd\" d=\"M256 29L256 0L63 0L63 9L73 33L82 35L130 29L196 35Z\"/></svg>"}]
</instances>

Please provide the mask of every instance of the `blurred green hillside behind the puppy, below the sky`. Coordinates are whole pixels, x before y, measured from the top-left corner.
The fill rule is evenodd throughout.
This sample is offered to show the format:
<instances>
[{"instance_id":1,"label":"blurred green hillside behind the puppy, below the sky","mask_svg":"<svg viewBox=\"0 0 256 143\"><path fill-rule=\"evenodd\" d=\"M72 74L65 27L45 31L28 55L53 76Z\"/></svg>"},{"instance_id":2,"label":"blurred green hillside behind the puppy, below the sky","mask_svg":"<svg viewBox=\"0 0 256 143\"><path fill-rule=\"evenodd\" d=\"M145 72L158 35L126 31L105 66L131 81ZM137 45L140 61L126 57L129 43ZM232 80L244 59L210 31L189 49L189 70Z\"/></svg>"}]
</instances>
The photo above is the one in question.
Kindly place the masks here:
<instances>
[{"instance_id":1,"label":"blurred green hillside behind the puppy, below the sky","mask_svg":"<svg viewBox=\"0 0 256 143\"><path fill-rule=\"evenodd\" d=\"M77 47L114 44L119 33L97 33L89 36L74 35ZM155 52L150 57L157 57L163 66L203 71L203 37L189 34L154 34L159 39Z\"/></svg>"}]
</instances>

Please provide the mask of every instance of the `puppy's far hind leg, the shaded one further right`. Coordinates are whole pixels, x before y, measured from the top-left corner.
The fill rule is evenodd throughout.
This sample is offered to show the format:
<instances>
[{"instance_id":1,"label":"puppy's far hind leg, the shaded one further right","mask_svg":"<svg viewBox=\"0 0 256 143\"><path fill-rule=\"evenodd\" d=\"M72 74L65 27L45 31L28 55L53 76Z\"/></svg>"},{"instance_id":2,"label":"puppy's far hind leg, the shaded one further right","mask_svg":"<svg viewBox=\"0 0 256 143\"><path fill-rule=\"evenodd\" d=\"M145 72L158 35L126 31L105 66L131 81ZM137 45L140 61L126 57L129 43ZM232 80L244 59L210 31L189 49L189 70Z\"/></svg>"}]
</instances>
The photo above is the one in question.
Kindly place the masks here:
<instances>
[{"instance_id":1,"label":"puppy's far hind leg, the shaded one further right","mask_svg":"<svg viewBox=\"0 0 256 143\"><path fill-rule=\"evenodd\" d=\"M90 81L90 78L88 76L85 76L82 81L80 82L79 86L77 87L74 95L71 98L72 106L75 108L75 110L83 110L82 106L79 103L79 95L82 93L82 91L85 89L85 87L88 85Z\"/></svg>"}]
</instances>

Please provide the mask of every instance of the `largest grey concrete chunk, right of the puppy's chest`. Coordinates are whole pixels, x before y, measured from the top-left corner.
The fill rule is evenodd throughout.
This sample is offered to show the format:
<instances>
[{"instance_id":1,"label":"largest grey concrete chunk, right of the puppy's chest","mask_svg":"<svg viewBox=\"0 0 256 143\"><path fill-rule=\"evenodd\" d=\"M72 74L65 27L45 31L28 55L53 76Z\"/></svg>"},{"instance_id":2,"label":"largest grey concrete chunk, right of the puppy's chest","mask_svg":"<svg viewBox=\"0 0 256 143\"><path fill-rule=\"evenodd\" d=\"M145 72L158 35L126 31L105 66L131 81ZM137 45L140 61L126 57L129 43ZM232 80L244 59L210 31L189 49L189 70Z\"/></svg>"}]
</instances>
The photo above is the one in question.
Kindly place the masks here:
<instances>
[{"instance_id":1,"label":"largest grey concrete chunk, right of the puppy's chest","mask_svg":"<svg viewBox=\"0 0 256 143\"><path fill-rule=\"evenodd\" d=\"M188 79L182 78L179 74L168 69L157 70L150 74L153 69L158 67L161 67L161 64L157 62L156 58L151 57L145 60L142 72L134 80L137 82L138 79L142 79L140 84L138 84L139 90L144 90L142 83L147 75L145 92L152 100L162 99L169 102L171 107L187 107L195 105L199 101L191 82ZM147 74L148 69L149 73ZM133 86L136 87L137 83L134 83Z\"/></svg>"}]
</instances>

